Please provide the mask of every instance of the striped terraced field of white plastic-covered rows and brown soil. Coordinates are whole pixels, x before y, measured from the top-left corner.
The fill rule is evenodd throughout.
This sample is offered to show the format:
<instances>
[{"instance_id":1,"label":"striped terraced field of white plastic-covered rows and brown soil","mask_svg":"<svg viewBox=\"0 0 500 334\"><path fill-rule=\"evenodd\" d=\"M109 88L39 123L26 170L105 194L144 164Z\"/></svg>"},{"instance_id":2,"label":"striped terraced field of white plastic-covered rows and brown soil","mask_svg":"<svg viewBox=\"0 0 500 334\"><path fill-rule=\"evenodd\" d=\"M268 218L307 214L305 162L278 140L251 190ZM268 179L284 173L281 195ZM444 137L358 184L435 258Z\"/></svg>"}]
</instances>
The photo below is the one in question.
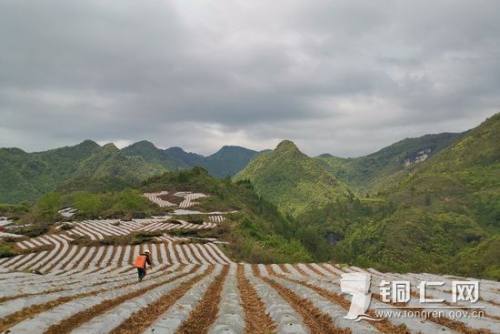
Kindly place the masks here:
<instances>
[{"instance_id":1,"label":"striped terraced field of white plastic-covered rows and brown soil","mask_svg":"<svg viewBox=\"0 0 500 334\"><path fill-rule=\"evenodd\" d=\"M192 199L191 199L192 200ZM179 204L176 204L179 205ZM221 223L224 214L207 224ZM341 293L345 273L369 273L377 308L415 310L420 281L443 281L427 289L442 298L434 308L452 304L449 286L456 279L430 274L380 273L331 263L234 263L217 241L190 243L169 236L164 218L74 222L18 243L34 252L0 259L0 332L2 333L499 333L500 283L481 280L478 318L345 319L350 296ZM177 225L177 224L173 224ZM196 225L196 224L193 224ZM160 228L161 227L161 228ZM170 227L170 226L168 226ZM172 227L174 228L174 227ZM176 228L180 228L176 226ZM199 228L183 225L182 228ZM210 228L206 225L204 228ZM165 231L138 245L79 246L77 236L102 240L134 231ZM132 261L149 249L153 267L137 282ZM40 274L32 274L36 270ZM406 304L383 303L376 287L382 280L411 282Z\"/></svg>"}]
</instances>

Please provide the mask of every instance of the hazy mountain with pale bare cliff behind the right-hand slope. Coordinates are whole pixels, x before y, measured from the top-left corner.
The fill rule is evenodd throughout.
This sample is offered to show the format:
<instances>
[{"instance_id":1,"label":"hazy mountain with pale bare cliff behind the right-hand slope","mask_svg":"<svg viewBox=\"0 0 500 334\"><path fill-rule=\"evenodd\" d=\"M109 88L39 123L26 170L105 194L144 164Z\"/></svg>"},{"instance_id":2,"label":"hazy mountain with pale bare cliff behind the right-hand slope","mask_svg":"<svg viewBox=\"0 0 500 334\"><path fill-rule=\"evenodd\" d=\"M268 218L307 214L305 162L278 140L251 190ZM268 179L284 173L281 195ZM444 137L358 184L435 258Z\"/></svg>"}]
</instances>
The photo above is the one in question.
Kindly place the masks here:
<instances>
[{"instance_id":1,"label":"hazy mountain with pale bare cliff behind the right-hand slope","mask_svg":"<svg viewBox=\"0 0 500 334\"><path fill-rule=\"evenodd\" d=\"M380 190L391 179L408 174L417 164L453 144L462 133L407 138L359 158L317 157L325 168L359 192Z\"/></svg>"}]
</instances>

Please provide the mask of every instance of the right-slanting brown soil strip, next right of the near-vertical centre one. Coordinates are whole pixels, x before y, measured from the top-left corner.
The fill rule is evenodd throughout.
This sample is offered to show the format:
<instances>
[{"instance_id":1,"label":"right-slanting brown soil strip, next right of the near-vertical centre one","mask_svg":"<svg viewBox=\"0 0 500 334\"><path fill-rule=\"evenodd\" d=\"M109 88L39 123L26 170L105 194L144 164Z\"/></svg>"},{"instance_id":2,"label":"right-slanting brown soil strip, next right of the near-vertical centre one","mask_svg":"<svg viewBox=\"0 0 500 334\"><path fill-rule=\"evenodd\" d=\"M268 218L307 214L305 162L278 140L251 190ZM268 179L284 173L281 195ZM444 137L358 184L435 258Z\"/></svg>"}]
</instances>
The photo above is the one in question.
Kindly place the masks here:
<instances>
[{"instance_id":1,"label":"right-slanting brown soil strip, next right of the near-vertical centre one","mask_svg":"<svg viewBox=\"0 0 500 334\"><path fill-rule=\"evenodd\" d=\"M301 298L291 290L281 286L271 278L260 276L257 266L252 266L254 275L260 277L264 282L275 289L279 295L293 307L297 313L302 316L304 324L309 327L311 334L347 334L351 333L350 329L340 329L333 325L333 320L327 314L322 313L309 300Z\"/></svg>"}]
</instances>

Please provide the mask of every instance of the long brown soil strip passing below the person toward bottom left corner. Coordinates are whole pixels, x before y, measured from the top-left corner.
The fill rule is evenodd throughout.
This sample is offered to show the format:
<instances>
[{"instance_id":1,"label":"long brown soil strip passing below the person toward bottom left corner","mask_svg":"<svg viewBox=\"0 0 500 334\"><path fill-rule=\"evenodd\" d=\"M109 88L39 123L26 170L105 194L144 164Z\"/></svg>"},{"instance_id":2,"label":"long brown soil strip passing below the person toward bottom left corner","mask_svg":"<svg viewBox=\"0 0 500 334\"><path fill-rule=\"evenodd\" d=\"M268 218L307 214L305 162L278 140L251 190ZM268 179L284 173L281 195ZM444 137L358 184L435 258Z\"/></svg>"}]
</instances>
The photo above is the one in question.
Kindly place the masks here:
<instances>
[{"instance_id":1,"label":"long brown soil strip passing below the person toward bottom left corner","mask_svg":"<svg viewBox=\"0 0 500 334\"><path fill-rule=\"evenodd\" d=\"M61 333L69 333L71 332L73 329L77 328L78 326L80 326L81 324L89 321L90 319L106 312L106 311L109 311L110 309L112 309L113 307L123 303L124 301L126 300L129 300L129 299L132 299L132 298L135 298L135 297L138 297L138 296L141 296L145 293L147 293L148 291L154 289L154 288L157 288L159 287L160 285L163 285L163 284L167 284L167 283L170 283L170 282L173 282L179 278L182 278L184 276L187 276L189 274L192 274L193 272L195 272L197 269L197 267L194 267L193 269L191 269L189 272L187 273L184 273L184 274L181 274L181 275L178 275L178 276L175 276L175 277L172 277L171 279L168 279L166 281L162 281L162 282L159 282L159 283L156 283L156 284L153 284L153 285L150 285L144 289L140 289L140 290L137 290L137 291L134 291L134 292L131 292L131 293L128 293L126 295L123 295L123 296L120 296L118 298L115 298L115 299L110 299L110 300L106 300L94 307L92 307L91 309L88 309L88 310L85 310L83 312L80 312L80 313L77 313L67 319L64 319L63 321L55 324L55 325L52 325L50 326L47 331L45 332L45 334L61 334Z\"/></svg>"}]
</instances>

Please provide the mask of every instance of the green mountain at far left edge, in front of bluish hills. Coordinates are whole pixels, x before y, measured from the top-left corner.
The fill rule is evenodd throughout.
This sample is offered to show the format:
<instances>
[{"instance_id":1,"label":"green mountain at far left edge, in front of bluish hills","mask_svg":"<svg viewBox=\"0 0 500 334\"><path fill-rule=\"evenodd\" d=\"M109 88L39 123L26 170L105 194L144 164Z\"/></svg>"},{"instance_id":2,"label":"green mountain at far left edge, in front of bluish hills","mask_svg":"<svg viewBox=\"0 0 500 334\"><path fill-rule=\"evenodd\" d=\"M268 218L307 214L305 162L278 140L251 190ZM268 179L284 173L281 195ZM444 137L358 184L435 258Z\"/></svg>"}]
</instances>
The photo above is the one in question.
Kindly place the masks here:
<instances>
[{"instance_id":1,"label":"green mountain at far left edge, in front of bluish hills","mask_svg":"<svg viewBox=\"0 0 500 334\"><path fill-rule=\"evenodd\" d=\"M165 171L160 164L122 154L112 144L101 147L90 140L36 153L0 149L0 202L33 201L60 187L117 189Z\"/></svg>"}]
</instances>

